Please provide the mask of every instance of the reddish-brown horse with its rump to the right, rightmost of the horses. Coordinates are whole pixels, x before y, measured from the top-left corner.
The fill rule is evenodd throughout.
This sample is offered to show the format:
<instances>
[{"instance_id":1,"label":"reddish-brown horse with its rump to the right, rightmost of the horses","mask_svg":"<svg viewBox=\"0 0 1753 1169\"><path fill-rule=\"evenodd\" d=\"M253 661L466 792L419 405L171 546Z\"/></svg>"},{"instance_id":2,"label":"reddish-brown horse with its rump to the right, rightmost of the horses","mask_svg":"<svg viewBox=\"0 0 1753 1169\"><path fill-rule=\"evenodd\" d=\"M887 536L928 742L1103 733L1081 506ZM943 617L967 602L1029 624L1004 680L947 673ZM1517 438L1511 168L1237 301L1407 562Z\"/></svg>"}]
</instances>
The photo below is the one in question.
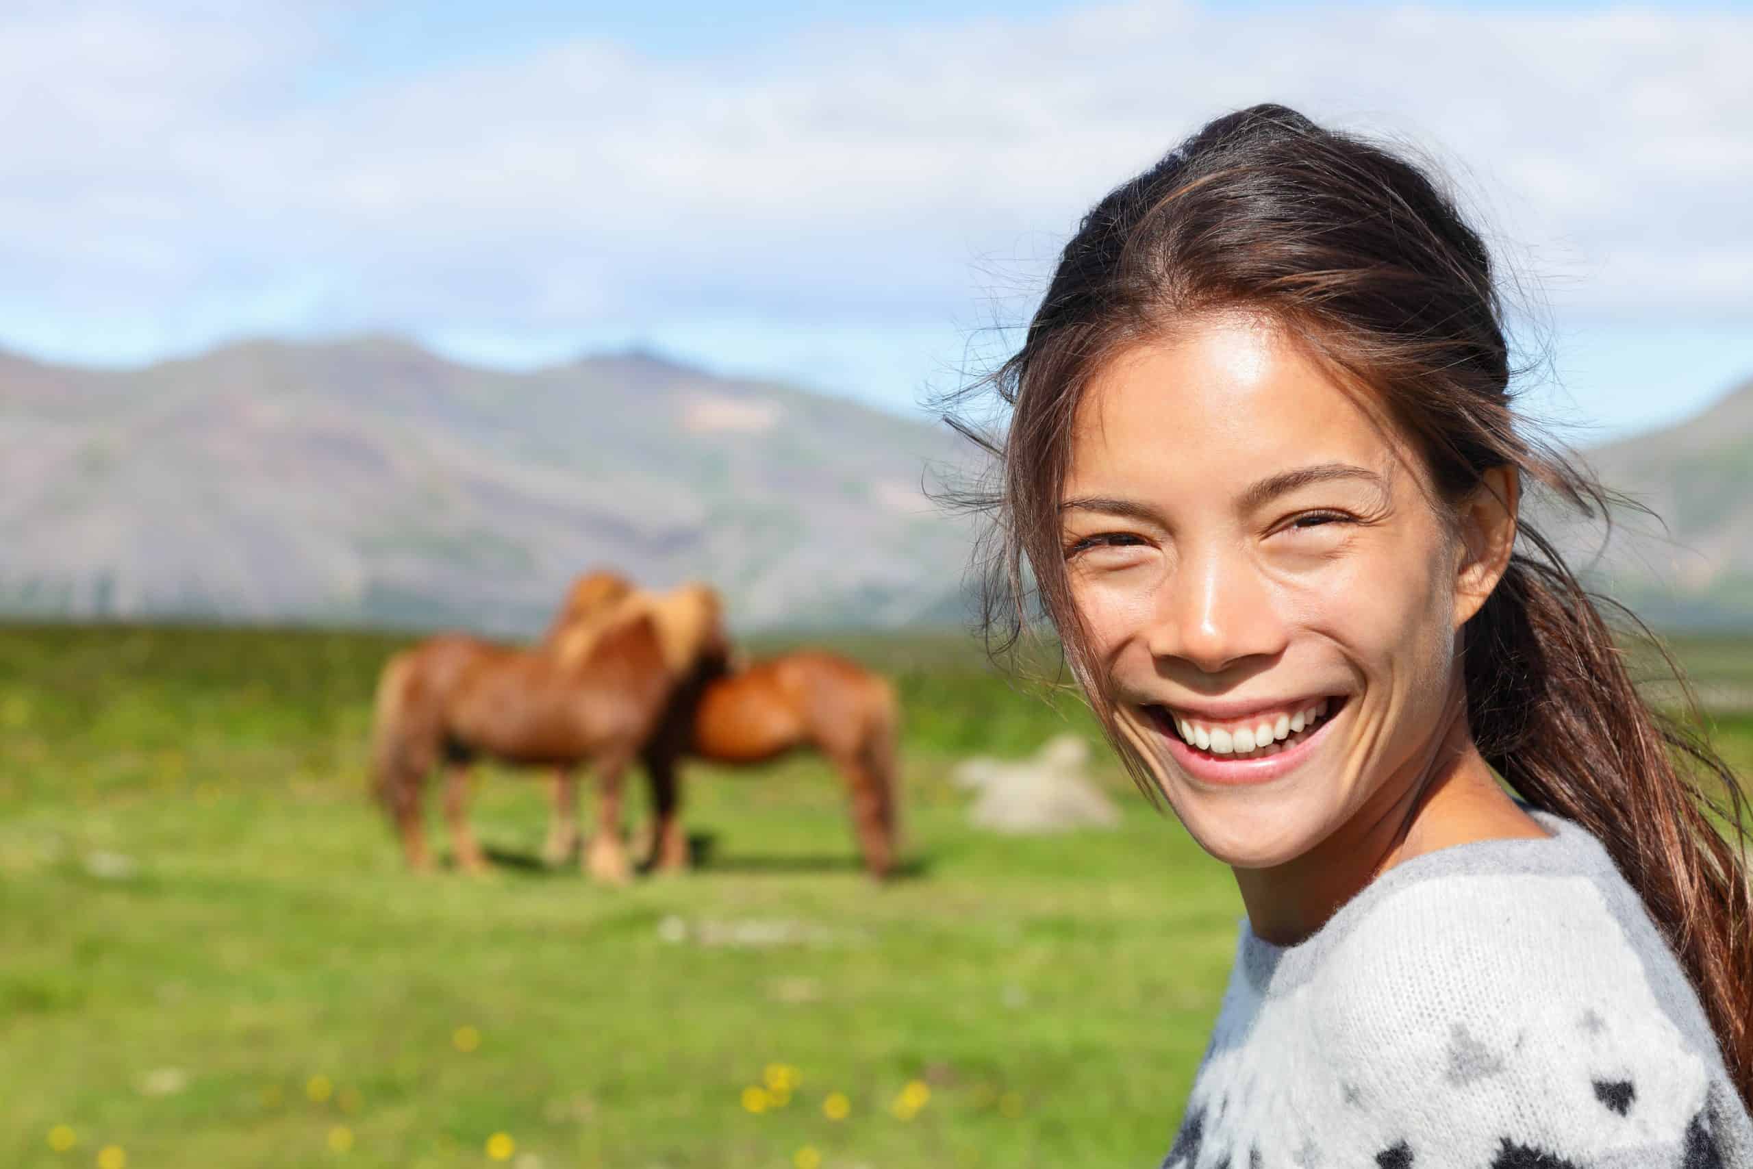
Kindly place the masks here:
<instances>
[{"instance_id":1,"label":"reddish-brown horse with its rump to the right, rightmost of the horses","mask_svg":"<svg viewBox=\"0 0 1753 1169\"><path fill-rule=\"evenodd\" d=\"M792 750L817 750L847 783L866 871L889 876L899 847L896 734L894 687L822 650L798 650L705 678L692 694L678 691L670 717L645 748L656 813L654 866L687 866L677 778L682 755L752 766ZM556 822L575 817L575 804L570 776L556 776Z\"/></svg>"}]
</instances>

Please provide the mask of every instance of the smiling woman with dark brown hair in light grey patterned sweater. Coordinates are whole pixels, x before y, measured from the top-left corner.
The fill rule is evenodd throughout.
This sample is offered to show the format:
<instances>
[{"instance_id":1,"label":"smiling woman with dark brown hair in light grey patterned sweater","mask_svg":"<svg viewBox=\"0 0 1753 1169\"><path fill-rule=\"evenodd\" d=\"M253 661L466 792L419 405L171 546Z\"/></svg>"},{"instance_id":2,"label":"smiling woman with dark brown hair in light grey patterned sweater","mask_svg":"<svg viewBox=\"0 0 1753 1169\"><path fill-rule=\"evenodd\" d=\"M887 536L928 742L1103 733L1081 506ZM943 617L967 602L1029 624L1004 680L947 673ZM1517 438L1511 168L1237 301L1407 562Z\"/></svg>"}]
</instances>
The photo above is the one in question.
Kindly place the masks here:
<instances>
[{"instance_id":1,"label":"smiling woman with dark brown hair in light grey patterned sweater","mask_svg":"<svg viewBox=\"0 0 1753 1169\"><path fill-rule=\"evenodd\" d=\"M1101 200L996 377L987 612L1246 906L1169 1167L1753 1165L1742 796L1518 522L1606 496L1508 382L1450 198L1276 105Z\"/></svg>"}]
</instances>

